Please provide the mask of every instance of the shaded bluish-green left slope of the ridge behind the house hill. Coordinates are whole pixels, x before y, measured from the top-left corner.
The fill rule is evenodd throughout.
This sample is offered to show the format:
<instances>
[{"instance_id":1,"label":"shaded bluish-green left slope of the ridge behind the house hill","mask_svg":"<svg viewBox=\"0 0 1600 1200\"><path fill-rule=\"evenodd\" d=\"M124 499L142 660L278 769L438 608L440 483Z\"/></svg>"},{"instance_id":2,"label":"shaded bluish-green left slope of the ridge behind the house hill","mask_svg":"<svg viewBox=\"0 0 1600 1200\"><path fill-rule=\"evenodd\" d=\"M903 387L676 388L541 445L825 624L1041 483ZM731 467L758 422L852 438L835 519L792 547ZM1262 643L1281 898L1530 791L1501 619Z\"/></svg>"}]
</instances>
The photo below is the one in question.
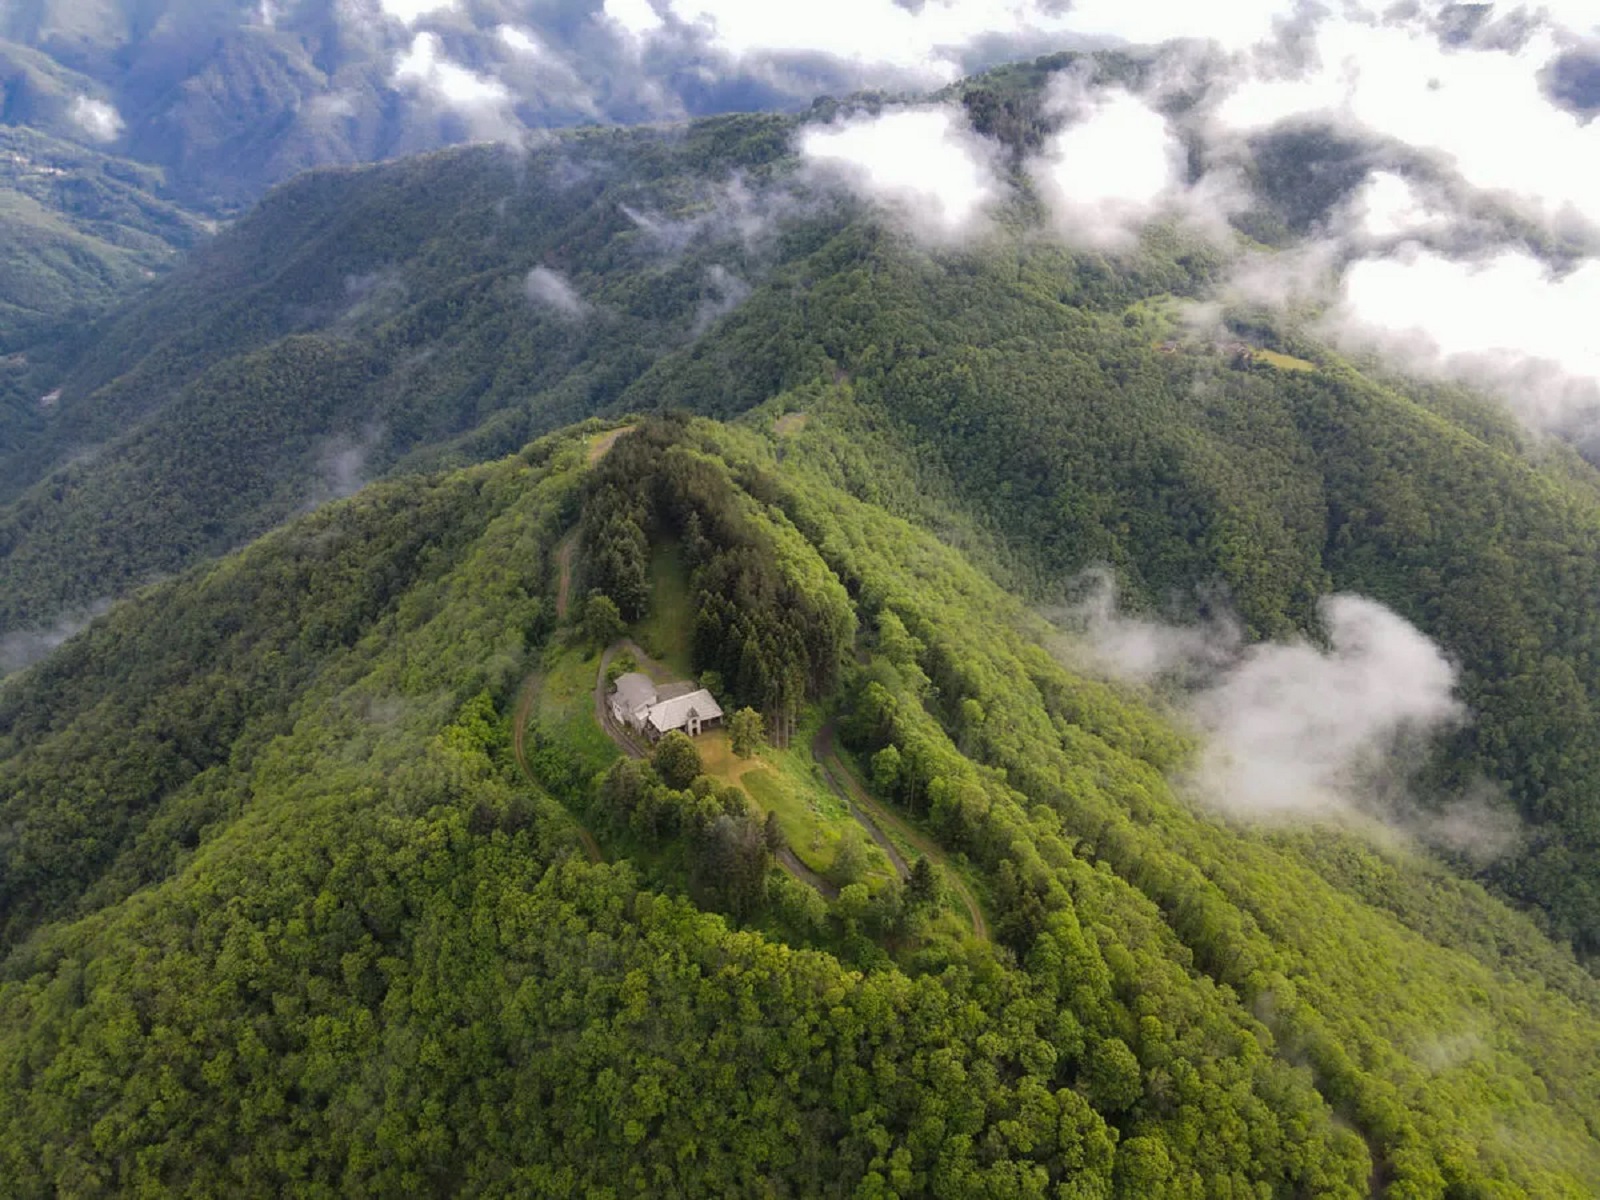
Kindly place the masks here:
<instances>
[{"instance_id":1,"label":"shaded bluish-green left slope of the ridge behind the house hill","mask_svg":"<svg viewBox=\"0 0 1600 1200\"><path fill-rule=\"evenodd\" d=\"M325 496L330 453L360 448L370 474L408 454L459 461L603 408L803 242L746 245L726 224L728 197L744 195L730 174L782 147L760 118L688 142L587 141L533 163L467 150L309 176L98 330L58 376L40 432L0 461L13 494L72 462L6 514L0 621L237 546ZM568 307L530 296L536 267L570 280ZM310 402L286 390L314 378L299 374L307 355L358 366ZM250 483L202 496L213 472ZM130 520L133 542L112 528Z\"/></svg>"}]
</instances>

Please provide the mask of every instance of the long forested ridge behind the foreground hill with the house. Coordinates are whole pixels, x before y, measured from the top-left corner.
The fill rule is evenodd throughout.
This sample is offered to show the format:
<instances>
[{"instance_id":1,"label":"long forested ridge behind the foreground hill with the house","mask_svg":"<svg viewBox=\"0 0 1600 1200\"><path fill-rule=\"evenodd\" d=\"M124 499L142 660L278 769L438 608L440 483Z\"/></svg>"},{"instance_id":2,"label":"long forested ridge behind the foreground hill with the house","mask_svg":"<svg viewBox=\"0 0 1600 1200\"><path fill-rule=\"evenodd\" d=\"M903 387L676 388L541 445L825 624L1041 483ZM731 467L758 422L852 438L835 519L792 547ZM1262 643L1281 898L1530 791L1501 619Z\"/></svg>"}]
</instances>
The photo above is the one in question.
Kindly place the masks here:
<instances>
[{"instance_id":1,"label":"long forested ridge behind the foreground hill with the house","mask_svg":"<svg viewBox=\"0 0 1600 1200\"><path fill-rule=\"evenodd\" d=\"M1040 74L966 107L1013 112L1024 144ZM586 131L274 192L30 378L59 394L3 458L0 626L78 619L384 472L848 379L1034 602L1109 565L1136 606L1226 594L1250 637L1315 634L1318 597L1355 590L1435 638L1472 714L1435 790L1486 782L1528 822L1485 878L1592 954L1590 470L1275 318L1229 336L1310 355L1278 355L1296 370L1179 346L1171 302L1224 269L1181 229L1074 251L1022 205L981 248L930 253L821 187L794 136L786 117Z\"/></svg>"}]
</instances>

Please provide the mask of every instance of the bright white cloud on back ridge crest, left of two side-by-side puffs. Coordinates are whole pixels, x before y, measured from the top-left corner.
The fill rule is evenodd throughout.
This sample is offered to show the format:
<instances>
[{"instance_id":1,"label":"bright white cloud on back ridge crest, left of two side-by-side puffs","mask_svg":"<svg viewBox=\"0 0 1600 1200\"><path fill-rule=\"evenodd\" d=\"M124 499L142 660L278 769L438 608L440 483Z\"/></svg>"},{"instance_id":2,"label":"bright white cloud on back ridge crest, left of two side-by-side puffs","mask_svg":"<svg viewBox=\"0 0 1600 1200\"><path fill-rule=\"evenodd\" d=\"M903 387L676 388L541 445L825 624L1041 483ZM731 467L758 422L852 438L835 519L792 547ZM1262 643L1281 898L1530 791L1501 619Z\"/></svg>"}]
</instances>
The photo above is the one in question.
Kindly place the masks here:
<instances>
[{"instance_id":1,"label":"bright white cloud on back ridge crest, left of two side-by-side puffs","mask_svg":"<svg viewBox=\"0 0 1600 1200\"><path fill-rule=\"evenodd\" d=\"M949 107L894 109L800 134L800 157L813 170L934 242L966 237L987 222L1002 197L994 155L995 147Z\"/></svg>"}]
</instances>

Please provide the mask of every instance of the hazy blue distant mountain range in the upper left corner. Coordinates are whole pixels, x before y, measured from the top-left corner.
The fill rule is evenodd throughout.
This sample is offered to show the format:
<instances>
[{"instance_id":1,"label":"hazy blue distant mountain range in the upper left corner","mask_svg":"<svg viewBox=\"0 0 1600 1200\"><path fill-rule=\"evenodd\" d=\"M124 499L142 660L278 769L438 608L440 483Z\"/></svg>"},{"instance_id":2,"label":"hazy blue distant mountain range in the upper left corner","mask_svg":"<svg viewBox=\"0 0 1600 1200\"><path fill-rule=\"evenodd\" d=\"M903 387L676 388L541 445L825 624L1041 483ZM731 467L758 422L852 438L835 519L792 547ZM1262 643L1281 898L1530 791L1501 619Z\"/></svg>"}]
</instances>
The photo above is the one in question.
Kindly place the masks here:
<instances>
[{"instance_id":1,"label":"hazy blue distant mountain range in the upper left corner","mask_svg":"<svg viewBox=\"0 0 1600 1200\"><path fill-rule=\"evenodd\" d=\"M426 72L406 82L410 42L376 5L6 5L0 347L102 309L302 170L653 115L621 96L602 112L533 90L485 125L442 102ZM464 37L467 51L494 45L493 27Z\"/></svg>"}]
</instances>

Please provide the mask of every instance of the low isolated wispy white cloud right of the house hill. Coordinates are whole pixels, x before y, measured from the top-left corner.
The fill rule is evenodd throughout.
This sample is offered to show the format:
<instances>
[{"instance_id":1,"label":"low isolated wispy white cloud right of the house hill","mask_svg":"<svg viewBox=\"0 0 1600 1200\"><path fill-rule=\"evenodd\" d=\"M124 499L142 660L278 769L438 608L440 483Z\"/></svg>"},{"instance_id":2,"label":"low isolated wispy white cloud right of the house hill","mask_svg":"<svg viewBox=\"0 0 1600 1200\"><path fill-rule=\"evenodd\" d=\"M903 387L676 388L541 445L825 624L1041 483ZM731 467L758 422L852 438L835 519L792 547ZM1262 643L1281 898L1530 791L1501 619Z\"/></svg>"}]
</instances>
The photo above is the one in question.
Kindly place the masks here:
<instances>
[{"instance_id":1,"label":"low isolated wispy white cloud right of the house hill","mask_svg":"<svg viewBox=\"0 0 1600 1200\"><path fill-rule=\"evenodd\" d=\"M1178 626L1123 613L1107 571L1061 614L1075 667L1158 685L1203 734L1189 779L1221 811L1251 819L1378 818L1434 845L1504 853L1515 818L1478 782L1424 808L1408 782L1427 739L1466 720L1456 669L1402 616L1360 595L1318 605L1326 645L1246 646L1213 611Z\"/></svg>"}]
</instances>

